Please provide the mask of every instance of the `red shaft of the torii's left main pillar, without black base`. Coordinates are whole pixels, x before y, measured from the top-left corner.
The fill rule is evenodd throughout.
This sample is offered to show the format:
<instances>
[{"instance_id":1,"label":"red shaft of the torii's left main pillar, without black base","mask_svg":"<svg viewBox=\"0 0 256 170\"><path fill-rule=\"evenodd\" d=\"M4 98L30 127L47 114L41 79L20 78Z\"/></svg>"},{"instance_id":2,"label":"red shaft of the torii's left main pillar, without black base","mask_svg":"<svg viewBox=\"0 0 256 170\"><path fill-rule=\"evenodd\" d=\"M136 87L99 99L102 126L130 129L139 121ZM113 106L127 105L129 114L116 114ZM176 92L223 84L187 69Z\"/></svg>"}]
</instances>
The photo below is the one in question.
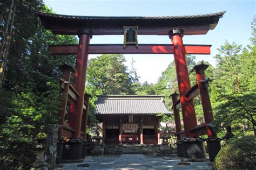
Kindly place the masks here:
<instances>
[{"instance_id":1,"label":"red shaft of the torii's left main pillar, without black base","mask_svg":"<svg viewBox=\"0 0 256 170\"><path fill-rule=\"evenodd\" d=\"M68 125L76 131L73 136L75 138L80 137L80 130L82 124L89 43L90 35L80 35L75 67L76 73L74 74L73 78L73 88L78 92L79 97L76 102L74 100L70 101L70 113L68 121Z\"/></svg>"}]
</instances>

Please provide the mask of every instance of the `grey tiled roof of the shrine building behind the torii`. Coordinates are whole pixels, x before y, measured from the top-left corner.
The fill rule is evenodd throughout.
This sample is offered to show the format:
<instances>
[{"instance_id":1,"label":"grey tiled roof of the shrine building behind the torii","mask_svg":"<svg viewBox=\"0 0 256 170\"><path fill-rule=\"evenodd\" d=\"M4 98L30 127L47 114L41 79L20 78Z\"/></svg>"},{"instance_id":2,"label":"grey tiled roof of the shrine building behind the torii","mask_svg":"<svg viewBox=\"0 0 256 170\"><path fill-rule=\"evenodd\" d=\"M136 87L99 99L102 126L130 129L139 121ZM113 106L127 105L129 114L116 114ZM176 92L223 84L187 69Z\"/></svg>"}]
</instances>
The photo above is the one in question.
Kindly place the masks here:
<instances>
[{"instance_id":1,"label":"grey tiled roof of the shrine building behind the torii","mask_svg":"<svg viewBox=\"0 0 256 170\"><path fill-rule=\"evenodd\" d=\"M109 95L98 96L96 115L105 114L170 114L163 96Z\"/></svg>"}]
</instances>

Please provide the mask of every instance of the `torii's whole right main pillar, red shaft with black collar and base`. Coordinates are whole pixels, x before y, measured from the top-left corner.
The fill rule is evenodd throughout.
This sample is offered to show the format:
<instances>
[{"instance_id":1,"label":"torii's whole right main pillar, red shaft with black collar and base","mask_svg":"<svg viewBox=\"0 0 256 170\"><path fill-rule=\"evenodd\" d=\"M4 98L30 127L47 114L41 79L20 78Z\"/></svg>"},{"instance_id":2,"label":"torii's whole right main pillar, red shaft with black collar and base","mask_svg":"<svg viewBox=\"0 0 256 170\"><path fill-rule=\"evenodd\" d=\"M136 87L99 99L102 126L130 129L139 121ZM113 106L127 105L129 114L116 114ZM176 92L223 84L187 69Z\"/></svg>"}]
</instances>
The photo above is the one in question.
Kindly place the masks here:
<instances>
[{"instance_id":1,"label":"torii's whole right main pillar, red shaft with black collar and base","mask_svg":"<svg viewBox=\"0 0 256 170\"><path fill-rule=\"evenodd\" d=\"M183 30L173 29L169 31L174 49L174 60L177 72L177 80L180 94L181 111L183 115L185 138L183 140L185 158L206 158L203 140L198 134L191 133L191 129L197 126L196 112L193 100L188 101L185 94L190 90L190 77L188 76L185 59L185 47L183 45Z\"/></svg>"}]
</instances>

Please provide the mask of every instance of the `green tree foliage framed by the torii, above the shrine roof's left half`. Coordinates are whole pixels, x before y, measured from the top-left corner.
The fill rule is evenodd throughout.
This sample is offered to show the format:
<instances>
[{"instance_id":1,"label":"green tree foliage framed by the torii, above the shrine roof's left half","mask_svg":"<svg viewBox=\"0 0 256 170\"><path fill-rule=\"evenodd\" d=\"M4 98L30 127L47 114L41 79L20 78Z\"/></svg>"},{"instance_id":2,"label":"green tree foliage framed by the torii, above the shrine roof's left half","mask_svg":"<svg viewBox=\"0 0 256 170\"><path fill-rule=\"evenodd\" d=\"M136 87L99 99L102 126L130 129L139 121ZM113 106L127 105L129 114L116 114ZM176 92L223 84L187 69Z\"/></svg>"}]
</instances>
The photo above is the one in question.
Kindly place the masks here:
<instances>
[{"instance_id":1,"label":"green tree foliage framed by the torii, above the shrine roof's left half","mask_svg":"<svg viewBox=\"0 0 256 170\"><path fill-rule=\"evenodd\" d=\"M125 58L120 54L104 54L90 59L86 91L93 95L134 94L132 80L124 62Z\"/></svg>"}]
</instances>

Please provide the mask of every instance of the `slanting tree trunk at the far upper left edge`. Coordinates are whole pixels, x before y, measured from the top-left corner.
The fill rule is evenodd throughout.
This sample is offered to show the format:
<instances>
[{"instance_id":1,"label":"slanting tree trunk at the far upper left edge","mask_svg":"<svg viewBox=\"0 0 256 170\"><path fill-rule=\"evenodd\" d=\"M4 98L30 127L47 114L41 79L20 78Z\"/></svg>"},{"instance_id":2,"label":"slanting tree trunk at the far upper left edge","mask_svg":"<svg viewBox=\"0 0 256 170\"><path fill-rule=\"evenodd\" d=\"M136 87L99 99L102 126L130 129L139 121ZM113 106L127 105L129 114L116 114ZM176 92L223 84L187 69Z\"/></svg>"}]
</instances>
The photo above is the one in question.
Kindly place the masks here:
<instances>
[{"instance_id":1,"label":"slanting tree trunk at the far upper left edge","mask_svg":"<svg viewBox=\"0 0 256 170\"><path fill-rule=\"evenodd\" d=\"M5 32L2 38L2 45L1 45L1 51L0 51L0 54L2 56L2 63L0 67L0 88L2 88L3 86L4 71L5 71L6 60L9 52L9 47L10 47L12 26L14 25L15 10L16 10L16 4L17 4L16 2L14 3L14 1L15 0L12 0L10 4L11 9L9 8L8 17L5 24ZM11 20L11 23L9 25L10 20ZM6 42L5 42L5 39L6 39Z\"/></svg>"}]
</instances>

